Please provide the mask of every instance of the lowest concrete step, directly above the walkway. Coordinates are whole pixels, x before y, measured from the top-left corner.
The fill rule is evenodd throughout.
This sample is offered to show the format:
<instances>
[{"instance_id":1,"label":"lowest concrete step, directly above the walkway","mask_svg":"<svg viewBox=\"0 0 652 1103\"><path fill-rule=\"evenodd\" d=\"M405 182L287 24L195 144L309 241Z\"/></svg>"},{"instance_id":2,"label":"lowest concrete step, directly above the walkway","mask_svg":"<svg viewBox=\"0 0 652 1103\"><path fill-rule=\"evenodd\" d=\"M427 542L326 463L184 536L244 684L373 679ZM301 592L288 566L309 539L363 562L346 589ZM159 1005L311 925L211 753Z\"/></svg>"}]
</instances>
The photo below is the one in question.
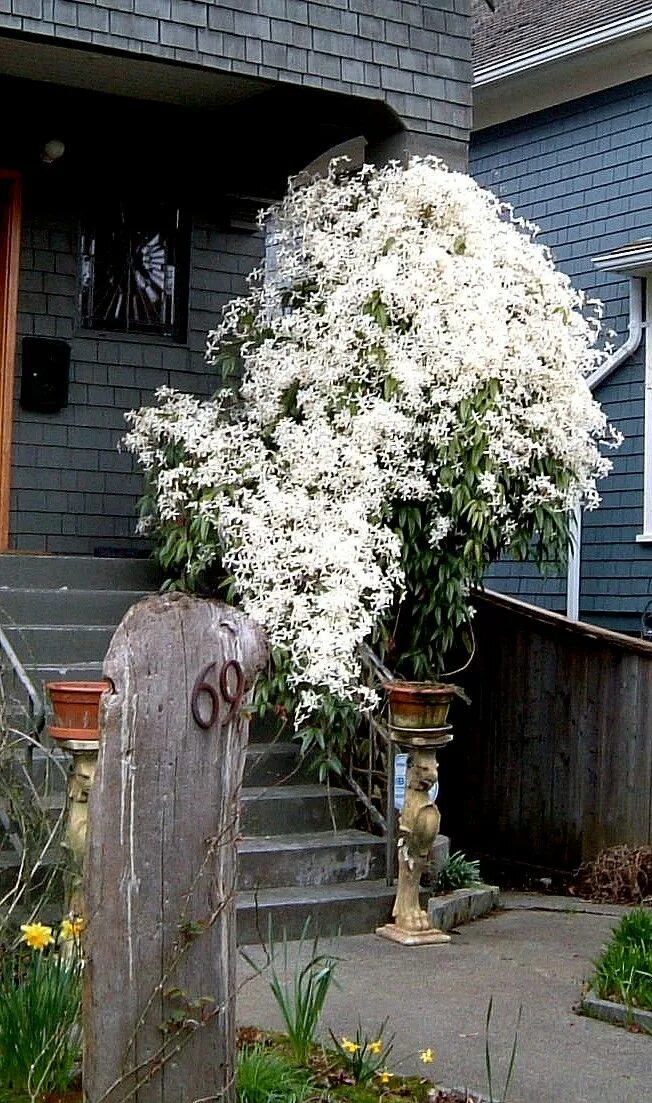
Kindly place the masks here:
<instances>
[{"instance_id":1,"label":"lowest concrete step, directly above the walkway","mask_svg":"<svg viewBox=\"0 0 652 1103\"><path fill-rule=\"evenodd\" d=\"M242 946L298 939L308 917L310 934L368 934L392 917L395 889L377 881L320 885L316 888L260 889L238 892L237 939Z\"/></svg>"}]
</instances>

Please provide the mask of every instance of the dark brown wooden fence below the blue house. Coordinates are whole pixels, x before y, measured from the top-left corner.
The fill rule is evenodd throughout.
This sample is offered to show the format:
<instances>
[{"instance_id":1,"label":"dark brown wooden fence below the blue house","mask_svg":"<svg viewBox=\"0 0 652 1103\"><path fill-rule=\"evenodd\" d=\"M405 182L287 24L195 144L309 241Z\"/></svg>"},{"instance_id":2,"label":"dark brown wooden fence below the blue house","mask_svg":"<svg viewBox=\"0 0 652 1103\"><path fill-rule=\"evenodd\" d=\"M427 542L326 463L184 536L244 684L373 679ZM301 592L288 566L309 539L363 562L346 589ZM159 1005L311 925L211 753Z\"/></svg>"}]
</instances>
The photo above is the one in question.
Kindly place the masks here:
<instances>
[{"instance_id":1,"label":"dark brown wooden fence below the blue house","mask_svg":"<svg viewBox=\"0 0 652 1103\"><path fill-rule=\"evenodd\" d=\"M652 644L491 592L474 604L442 829L469 854L557 870L652 843Z\"/></svg>"}]
</instances>

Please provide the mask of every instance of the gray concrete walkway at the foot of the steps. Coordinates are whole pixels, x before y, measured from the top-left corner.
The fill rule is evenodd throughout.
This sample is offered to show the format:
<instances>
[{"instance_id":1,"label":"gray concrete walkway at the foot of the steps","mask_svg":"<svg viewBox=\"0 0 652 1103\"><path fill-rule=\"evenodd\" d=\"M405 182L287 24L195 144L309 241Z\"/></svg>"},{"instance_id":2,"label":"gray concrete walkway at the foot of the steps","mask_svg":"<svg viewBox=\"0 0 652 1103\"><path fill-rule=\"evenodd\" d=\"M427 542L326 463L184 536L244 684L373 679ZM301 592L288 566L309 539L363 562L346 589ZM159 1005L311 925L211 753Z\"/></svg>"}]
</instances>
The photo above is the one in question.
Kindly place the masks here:
<instances>
[{"instance_id":1,"label":"gray concrete walkway at the foot of the steps","mask_svg":"<svg viewBox=\"0 0 652 1103\"><path fill-rule=\"evenodd\" d=\"M491 1052L500 1097L520 1005L515 1073L509 1103L642 1103L652 1097L652 1038L573 1010L591 961L624 909L568 898L505 893L505 909L453 932L450 945L404 947L375 935L323 942L340 959L322 1036L370 1036L388 1018L388 1067L487 1091L484 1019L493 997ZM291 943L292 955L297 943ZM248 947L260 963L264 955ZM308 957L308 954L306 954ZM295 957L296 960L296 957ZM278 954L282 967L282 949ZM237 1019L281 1029L265 975L241 961Z\"/></svg>"}]
</instances>

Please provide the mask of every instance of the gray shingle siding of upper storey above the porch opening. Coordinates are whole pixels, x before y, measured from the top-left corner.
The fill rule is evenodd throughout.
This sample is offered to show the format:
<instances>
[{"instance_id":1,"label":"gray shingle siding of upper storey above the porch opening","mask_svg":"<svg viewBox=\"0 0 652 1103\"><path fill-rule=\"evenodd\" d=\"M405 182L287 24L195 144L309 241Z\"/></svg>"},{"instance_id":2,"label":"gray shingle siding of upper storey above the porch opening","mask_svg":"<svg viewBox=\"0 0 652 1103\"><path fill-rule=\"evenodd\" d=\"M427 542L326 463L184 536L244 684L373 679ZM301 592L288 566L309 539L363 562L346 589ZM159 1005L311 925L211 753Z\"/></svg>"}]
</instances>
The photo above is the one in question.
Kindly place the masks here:
<instances>
[{"instance_id":1,"label":"gray shingle siding of upper storey above the porch opening","mask_svg":"<svg viewBox=\"0 0 652 1103\"><path fill-rule=\"evenodd\" d=\"M380 96L408 130L468 138L470 0L54 0L47 12L41 0L9 0L2 9L0 33ZM435 74L445 83L435 81L434 57L446 62Z\"/></svg>"}]
</instances>

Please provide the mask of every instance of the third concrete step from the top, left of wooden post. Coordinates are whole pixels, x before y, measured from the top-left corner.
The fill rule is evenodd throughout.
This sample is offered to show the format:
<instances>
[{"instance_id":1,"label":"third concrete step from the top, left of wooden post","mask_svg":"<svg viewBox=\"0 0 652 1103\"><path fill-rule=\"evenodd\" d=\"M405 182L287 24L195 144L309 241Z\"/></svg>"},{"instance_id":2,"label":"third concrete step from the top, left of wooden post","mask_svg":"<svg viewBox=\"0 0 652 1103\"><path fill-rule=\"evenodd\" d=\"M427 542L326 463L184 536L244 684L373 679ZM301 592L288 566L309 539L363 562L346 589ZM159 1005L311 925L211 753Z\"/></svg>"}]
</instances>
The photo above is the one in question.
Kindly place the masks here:
<instances>
[{"instance_id":1,"label":"third concrete step from the top, left of wooden post","mask_svg":"<svg viewBox=\"0 0 652 1103\"><path fill-rule=\"evenodd\" d=\"M115 631L115 624L4 627L4 634L23 665L25 660L38 665L101 663Z\"/></svg>"}]
</instances>

